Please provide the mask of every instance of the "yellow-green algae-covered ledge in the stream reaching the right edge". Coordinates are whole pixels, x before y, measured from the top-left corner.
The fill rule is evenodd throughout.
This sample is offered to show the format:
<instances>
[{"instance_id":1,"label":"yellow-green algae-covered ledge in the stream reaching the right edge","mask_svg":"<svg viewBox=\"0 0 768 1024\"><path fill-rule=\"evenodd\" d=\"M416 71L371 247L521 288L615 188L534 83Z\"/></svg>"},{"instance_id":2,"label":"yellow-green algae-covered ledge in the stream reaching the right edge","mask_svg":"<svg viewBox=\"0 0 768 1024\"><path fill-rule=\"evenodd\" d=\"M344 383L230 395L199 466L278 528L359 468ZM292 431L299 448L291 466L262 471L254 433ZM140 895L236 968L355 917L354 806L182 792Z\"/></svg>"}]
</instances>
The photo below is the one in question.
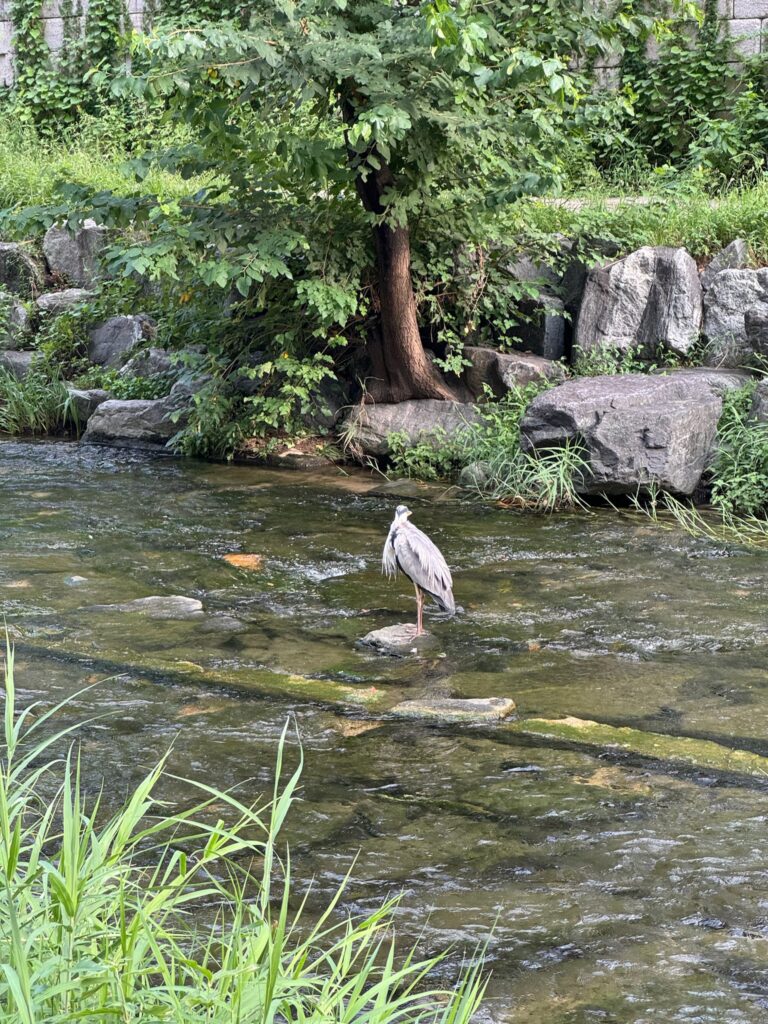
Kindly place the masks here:
<instances>
[{"instance_id":1,"label":"yellow-green algae-covered ledge in the stream reaching the right edge","mask_svg":"<svg viewBox=\"0 0 768 1024\"><path fill-rule=\"evenodd\" d=\"M768 781L768 758L750 751L733 750L711 739L644 732L629 726L605 725L571 716L560 719L528 718L507 728L526 736L620 751L654 761L679 763L705 771L750 775Z\"/></svg>"}]
</instances>

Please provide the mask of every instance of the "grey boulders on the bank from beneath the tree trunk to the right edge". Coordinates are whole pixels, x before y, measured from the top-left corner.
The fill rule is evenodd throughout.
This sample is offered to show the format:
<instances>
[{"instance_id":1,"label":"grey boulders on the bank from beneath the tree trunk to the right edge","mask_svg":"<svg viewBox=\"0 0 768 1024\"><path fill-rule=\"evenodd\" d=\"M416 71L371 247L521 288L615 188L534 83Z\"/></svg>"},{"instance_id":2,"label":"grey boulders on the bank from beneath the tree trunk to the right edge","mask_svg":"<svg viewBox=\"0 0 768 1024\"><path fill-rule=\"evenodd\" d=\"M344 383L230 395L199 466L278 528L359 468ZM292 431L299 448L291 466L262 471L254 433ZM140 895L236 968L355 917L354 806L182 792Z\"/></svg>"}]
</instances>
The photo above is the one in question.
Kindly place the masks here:
<instances>
[{"instance_id":1,"label":"grey boulders on the bank from beneath the tree trunk to the right edge","mask_svg":"<svg viewBox=\"0 0 768 1024\"><path fill-rule=\"evenodd\" d=\"M600 366L603 356L608 364L616 351L626 352L637 364L645 360L650 372L566 379L565 360L535 354L544 344L540 323L531 352L466 347L457 390L473 399L488 391L503 398L547 381L554 386L534 398L520 423L524 452L577 445L586 468L574 482L584 495L650 488L693 495L716 454L723 395L743 387L768 359L768 268L751 269L748 261L741 240L701 272L685 249L668 247L606 257L590 269L566 261L559 276L521 261L513 268L521 280L539 272L545 293L559 293L573 317L574 355ZM695 355L701 365L652 370L665 354L673 361ZM347 417L343 436L368 456L386 456L396 432L414 444L457 438L476 422L474 410L472 403L432 401L366 406ZM765 383L757 388L753 416L768 420ZM482 475L482 465L473 464L461 482L477 485Z\"/></svg>"}]
</instances>

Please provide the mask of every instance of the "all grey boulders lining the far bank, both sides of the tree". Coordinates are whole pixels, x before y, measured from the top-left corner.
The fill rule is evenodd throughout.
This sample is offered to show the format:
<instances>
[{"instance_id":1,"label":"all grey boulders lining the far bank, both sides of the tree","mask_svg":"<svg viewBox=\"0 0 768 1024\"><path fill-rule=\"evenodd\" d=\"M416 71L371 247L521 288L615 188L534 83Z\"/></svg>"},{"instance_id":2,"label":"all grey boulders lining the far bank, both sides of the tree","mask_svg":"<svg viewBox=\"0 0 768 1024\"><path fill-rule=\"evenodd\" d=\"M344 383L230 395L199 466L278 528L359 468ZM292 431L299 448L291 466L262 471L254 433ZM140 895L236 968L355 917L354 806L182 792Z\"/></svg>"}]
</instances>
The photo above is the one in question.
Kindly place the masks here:
<instances>
[{"instance_id":1,"label":"all grey boulders lining the far bank, both sides of the tree","mask_svg":"<svg viewBox=\"0 0 768 1024\"><path fill-rule=\"evenodd\" d=\"M105 272L106 241L103 227L86 221L75 232L52 226L37 251L0 243L0 368L25 378L38 358L39 326L84 304L92 308ZM406 446L457 440L482 421L478 406L489 396L512 395L519 402L521 388L544 384L520 423L524 452L578 445L586 467L575 482L585 495L651 487L693 494L713 460L723 394L742 386L768 359L768 268L751 267L749 248L738 239L700 271L683 248L644 246L616 258L609 242L593 242L594 251L603 253L594 266L585 265L567 240L557 268L534 257L509 263L509 275L526 297L510 310L503 346L465 345L464 369L450 379L456 401L360 402L349 409L345 387L325 383L304 412L307 429L339 430L348 452L386 459L393 435ZM579 354L580 367L568 367L569 349L571 361ZM595 370L609 367L616 350L636 365L666 354L701 366L584 375L585 359ZM180 371L159 346L153 318L141 310L102 313L89 325L87 352L93 367L124 379L160 380L160 393L170 394L118 399L102 388L70 385L69 409L83 441L167 445L205 381L178 380ZM264 357L253 353L253 367ZM243 395L260 386L248 373L233 374L231 383ZM756 392L753 416L768 420L765 385ZM514 431L510 437L500 444L517 451ZM465 481L476 481L481 471L468 467Z\"/></svg>"}]
</instances>

